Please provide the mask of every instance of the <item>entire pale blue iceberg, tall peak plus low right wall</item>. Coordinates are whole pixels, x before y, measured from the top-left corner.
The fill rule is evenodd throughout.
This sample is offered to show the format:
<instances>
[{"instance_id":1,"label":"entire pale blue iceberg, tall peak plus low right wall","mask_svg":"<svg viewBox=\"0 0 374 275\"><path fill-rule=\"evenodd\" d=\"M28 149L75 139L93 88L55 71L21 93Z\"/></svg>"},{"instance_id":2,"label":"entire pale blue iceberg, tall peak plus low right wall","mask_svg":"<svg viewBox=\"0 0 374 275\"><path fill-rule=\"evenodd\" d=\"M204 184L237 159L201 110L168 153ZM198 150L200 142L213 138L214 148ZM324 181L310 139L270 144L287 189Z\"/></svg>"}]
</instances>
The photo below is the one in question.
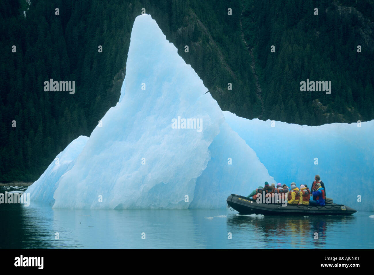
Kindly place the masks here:
<instances>
[{"instance_id":1,"label":"entire pale blue iceberg, tall peak plus low right wall","mask_svg":"<svg viewBox=\"0 0 374 275\"><path fill-rule=\"evenodd\" d=\"M373 129L370 123L363 125ZM132 28L117 105L107 111L89 138L77 138L58 155L61 159L63 154L69 155L69 162L59 168L52 162L26 193L31 201L47 202L53 208L213 209L226 208L230 193L248 195L265 181L300 180L301 184L305 183L301 179L309 181L321 174L329 194L332 181L324 173L334 169L327 164L332 165L335 156L328 162L325 158L338 150L347 152L334 144L348 146L354 156L367 158L356 159L354 168L367 164L362 179L368 183L372 155L359 142L366 139L368 143L372 130L365 128L365 137L352 146L350 138L338 141L344 125L319 128L333 131L328 135L330 141L316 135L317 131L309 138L313 130L308 126L276 125L278 132L273 135L269 122L223 112L156 21L143 14ZM306 140L298 146L297 138ZM322 146L320 151L315 142ZM310 165L310 152L324 154L314 154L320 158L320 169ZM340 189L343 180L335 181ZM343 199L350 188L334 193L334 199Z\"/></svg>"}]
</instances>

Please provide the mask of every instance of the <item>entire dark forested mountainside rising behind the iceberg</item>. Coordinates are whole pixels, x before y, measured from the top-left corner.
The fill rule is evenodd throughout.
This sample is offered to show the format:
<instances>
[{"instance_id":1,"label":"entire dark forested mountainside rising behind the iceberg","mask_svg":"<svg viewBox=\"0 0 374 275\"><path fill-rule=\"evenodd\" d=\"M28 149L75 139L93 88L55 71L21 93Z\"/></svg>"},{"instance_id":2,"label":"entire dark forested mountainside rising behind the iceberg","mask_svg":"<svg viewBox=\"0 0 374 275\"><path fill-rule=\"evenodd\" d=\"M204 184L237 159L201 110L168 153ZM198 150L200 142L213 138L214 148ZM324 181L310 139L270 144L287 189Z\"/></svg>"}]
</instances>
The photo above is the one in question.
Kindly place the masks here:
<instances>
[{"instance_id":1,"label":"entire dark forested mountainside rising behind the iceberg","mask_svg":"<svg viewBox=\"0 0 374 275\"><path fill-rule=\"evenodd\" d=\"M0 181L36 180L116 104L142 8L223 110L307 125L374 117L371 0L30 3L0 3ZM75 81L75 94L45 91L49 79ZM306 79L331 81L331 94L300 91Z\"/></svg>"}]
</instances>

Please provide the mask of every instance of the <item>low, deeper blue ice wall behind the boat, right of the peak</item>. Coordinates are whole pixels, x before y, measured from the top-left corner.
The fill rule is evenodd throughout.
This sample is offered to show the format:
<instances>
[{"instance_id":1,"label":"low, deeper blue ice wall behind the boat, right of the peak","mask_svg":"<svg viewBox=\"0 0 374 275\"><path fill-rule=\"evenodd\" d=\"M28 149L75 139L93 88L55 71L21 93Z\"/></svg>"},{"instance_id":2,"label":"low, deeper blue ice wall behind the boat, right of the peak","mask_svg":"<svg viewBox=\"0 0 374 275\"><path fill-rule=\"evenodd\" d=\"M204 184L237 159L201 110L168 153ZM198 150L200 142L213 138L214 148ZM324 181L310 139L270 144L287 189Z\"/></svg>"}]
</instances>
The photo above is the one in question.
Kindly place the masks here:
<instances>
[{"instance_id":1,"label":"low, deeper blue ice wall behind the boat, right of the peak","mask_svg":"<svg viewBox=\"0 0 374 275\"><path fill-rule=\"evenodd\" d=\"M374 210L374 120L362 122L361 127L357 123L301 126L278 121L271 127L270 120L223 113L278 182L311 187L319 174L335 203Z\"/></svg>"}]
</instances>

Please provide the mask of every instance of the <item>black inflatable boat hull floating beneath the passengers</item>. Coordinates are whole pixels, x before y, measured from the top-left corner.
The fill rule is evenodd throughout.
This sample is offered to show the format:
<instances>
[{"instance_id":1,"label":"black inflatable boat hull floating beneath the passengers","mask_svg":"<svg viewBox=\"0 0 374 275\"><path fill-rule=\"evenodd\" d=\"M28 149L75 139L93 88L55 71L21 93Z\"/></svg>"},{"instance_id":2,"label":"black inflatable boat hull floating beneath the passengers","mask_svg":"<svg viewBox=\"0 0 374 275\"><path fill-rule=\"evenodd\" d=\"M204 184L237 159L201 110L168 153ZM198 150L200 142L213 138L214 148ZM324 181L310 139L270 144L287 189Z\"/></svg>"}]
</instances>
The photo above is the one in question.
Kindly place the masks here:
<instances>
[{"instance_id":1,"label":"black inflatable boat hull floating beneath the passengers","mask_svg":"<svg viewBox=\"0 0 374 275\"><path fill-rule=\"evenodd\" d=\"M263 215L334 215L349 216L357 211L343 204L326 204L324 206L287 204L258 204L254 199L231 194L227 198L228 207L234 208L239 214Z\"/></svg>"}]
</instances>

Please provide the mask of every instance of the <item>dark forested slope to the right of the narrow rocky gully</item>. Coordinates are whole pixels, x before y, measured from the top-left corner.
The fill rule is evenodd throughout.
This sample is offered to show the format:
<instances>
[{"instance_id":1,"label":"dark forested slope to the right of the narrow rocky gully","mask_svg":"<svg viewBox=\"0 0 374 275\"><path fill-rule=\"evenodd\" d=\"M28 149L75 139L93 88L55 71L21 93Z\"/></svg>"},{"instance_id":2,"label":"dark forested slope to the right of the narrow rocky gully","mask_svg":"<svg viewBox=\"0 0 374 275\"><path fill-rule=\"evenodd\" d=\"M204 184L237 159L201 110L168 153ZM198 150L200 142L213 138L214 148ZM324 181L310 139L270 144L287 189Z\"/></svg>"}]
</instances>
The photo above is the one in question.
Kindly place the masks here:
<instances>
[{"instance_id":1,"label":"dark forested slope to the right of the narrow rocky gully","mask_svg":"<svg viewBox=\"0 0 374 275\"><path fill-rule=\"evenodd\" d=\"M307 125L373 119L373 1L353 7L344 6L352 1L243 2L244 37L264 97L262 119ZM331 94L300 92L306 79L331 81Z\"/></svg>"}]
</instances>

